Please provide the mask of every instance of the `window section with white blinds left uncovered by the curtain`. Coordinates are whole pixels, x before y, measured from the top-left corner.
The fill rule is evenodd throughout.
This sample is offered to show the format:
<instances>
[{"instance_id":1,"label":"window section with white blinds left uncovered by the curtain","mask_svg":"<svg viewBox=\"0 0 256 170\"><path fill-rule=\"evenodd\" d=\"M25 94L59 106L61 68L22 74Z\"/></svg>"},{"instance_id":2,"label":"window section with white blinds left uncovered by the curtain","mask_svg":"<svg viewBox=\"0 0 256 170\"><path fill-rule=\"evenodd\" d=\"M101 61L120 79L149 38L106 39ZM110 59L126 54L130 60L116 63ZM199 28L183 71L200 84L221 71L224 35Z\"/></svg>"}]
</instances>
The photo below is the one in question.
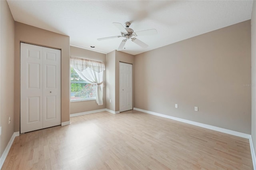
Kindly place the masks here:
<instances>
[{"instance_id":1,"label":"window section with white blinds left uncovered by the curtain","mask_svg":"<svg viewBox=\"0 0 256 170\"><path fill-rule=\"evenodd\" d=\"M73 67L70 71L70 101L95 100L97 85L84 81Z\"/></svg>"}]
</instances>

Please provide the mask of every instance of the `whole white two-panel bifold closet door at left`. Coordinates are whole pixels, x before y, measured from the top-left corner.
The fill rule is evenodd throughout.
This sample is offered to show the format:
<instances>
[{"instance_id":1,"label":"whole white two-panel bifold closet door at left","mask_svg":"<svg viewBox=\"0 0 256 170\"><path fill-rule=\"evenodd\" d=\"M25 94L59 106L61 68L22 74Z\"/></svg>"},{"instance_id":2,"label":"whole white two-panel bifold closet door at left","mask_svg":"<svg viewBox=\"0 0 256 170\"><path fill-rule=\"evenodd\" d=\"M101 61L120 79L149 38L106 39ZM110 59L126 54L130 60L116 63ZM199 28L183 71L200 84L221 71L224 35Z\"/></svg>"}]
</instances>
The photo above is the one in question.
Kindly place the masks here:
<instances>
[{"instance_id":1,"label":"whole white two-panel bifold closet door at left","mask_svg":"<svg viewBox=\"0 0 256 170\"><path fill-rule=\"evenodd\" d=\"M61 124L61 51L20 43L20 133Z\"/></svg>"}]
</instances>

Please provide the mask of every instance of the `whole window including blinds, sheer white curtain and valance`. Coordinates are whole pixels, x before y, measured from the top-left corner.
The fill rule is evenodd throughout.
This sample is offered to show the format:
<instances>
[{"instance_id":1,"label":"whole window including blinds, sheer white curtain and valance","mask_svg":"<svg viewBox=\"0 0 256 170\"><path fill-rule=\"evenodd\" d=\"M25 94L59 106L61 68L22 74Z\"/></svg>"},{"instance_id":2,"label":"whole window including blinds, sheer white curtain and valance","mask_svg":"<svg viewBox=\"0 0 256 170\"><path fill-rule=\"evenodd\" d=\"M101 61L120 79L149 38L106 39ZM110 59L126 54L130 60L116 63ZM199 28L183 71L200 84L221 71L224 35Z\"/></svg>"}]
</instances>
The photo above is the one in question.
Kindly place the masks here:
<instances>
[{"instance_id":1,"label":"whole window including blinds, sheer white curtain and valance","mask_svg":"<svg viewBox=\"0 0 256 170\"><path fill-rule=\"evenodd\" d=\"M76 101L95 99L98 105L103 105L105 64L99 61L70 57L70 67L72 67L73 76L70 77L71 83L76 84L72 87L72 99L76 99ZM81 84L79 85L79 83Z\"/></svg>"}]
</instances>

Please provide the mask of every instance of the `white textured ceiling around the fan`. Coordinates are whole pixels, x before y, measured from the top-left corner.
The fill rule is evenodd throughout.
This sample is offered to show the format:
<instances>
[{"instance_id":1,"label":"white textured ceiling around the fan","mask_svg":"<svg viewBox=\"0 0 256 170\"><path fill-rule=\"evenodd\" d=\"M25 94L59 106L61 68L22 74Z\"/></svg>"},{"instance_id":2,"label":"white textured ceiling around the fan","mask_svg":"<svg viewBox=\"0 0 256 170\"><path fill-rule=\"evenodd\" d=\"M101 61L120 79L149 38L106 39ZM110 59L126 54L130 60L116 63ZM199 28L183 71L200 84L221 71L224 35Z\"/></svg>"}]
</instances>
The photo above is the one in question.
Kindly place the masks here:
<instances>
[{"instance_id":1,"label":"white textured ceiling around the fan","mask_svg":"<svg viewBox=\"0 0 256 170\"><path fill-rule=\"evenodd\" d=\"M122 51L138 54L217 30L251 18L253 1L24 1L9 0L15 21L70 36L70 45L109 53L122 38L112 22L131 22L135 32L155 28L158 34L138 36L142 48L128 40ZM91 48L90 46L95 46Z\"/></svg>"}]
</instances>

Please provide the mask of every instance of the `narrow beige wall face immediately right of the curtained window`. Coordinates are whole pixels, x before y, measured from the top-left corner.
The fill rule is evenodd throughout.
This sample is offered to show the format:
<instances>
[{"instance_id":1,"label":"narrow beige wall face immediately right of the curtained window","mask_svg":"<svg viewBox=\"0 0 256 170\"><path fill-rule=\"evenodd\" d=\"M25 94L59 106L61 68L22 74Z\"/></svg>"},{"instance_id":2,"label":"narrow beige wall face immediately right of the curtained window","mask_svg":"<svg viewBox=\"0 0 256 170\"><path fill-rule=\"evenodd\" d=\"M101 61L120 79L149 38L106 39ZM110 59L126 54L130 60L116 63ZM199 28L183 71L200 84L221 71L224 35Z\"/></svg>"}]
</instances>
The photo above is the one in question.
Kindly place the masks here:
<instances>
[{"instance_id":1,"label":"narrow beige wall face immediately right of the curtained window","mask_svg":"<svg viewBox=\"0 0 256 170\"><path fill-rule=\"evenodd\" d=\"M112 111L115 111L115 62L116 52L112 51L106 55L106 108Z\"/></svg>"}]
</instances>

